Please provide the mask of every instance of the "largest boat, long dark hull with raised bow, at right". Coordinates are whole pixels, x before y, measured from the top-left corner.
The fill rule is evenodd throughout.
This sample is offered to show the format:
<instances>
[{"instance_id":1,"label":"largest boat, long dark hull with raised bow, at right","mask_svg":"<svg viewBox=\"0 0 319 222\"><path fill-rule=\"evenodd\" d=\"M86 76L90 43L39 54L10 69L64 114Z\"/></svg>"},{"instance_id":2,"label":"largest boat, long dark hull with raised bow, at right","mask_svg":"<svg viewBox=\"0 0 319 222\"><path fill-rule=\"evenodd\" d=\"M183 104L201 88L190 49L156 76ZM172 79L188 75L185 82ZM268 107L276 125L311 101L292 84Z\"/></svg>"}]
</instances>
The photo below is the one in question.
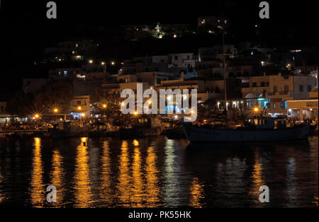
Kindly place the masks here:
<instances>
[{"instance_id":1,"label":"largest boat, long dark hull with raised bow, at right","mask_svg":"<svg viewBox=\"0 0 319 222\"><path fill-rule=\"evenodd\" d=\"M310 124L275 129L274 119L267 117L257 120L258 124L234 129L216 129L183 122L186 138L191 142L241 142L241 141L285 141L307 139Z\"/></svg>"}]
</instances>

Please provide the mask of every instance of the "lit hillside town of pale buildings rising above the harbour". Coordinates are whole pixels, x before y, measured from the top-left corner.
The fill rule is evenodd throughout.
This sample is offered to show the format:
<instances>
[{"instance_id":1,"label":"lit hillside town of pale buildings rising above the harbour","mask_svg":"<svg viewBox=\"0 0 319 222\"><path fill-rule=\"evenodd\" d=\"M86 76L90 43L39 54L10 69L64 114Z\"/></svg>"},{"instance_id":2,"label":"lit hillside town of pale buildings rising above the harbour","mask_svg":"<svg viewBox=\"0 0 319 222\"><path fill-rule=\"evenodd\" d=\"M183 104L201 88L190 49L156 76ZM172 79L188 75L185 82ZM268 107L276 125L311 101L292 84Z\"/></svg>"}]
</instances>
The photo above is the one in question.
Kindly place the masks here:
<instances>
[{"instance_id":1,"label":"lit hillside town of pale buildings rising above the harbour","mask_svg":"<svg viewBox=\"0 0 319 222\"><path fill-rule=\"evenodd\" d=\"M140 44L201 35L216 40L216 44L208 41L206 47L193 51L167 49L169 53L161 54L155 50L145 56L109 59L99 56L104 50L99 40L68 40L45 47L43 57L34 62L35 67L45 66L45 73L41 78L25 76L16 95L10 99L2 96L0 123L8 127L40 120L42 124L77 120L78 124L102 121L113 125L115 119L123 120L119 113L121 91L130 88L136 92L137 83L142 83L144 90L157 92L196 89L199 120L211 119L224 110L230 110L228 118L233 121L245 119L258 107L269 117L316 123L316 48L274 47L252 40L221 42L220 30L227 36L229 24L228 18L206 16L198 18L196 28L157 23L113 30L122 33L126 41ZM177 121L184 117L174 112L178 109L173 102L160 118Z\"/></svg>"}]
</instances>

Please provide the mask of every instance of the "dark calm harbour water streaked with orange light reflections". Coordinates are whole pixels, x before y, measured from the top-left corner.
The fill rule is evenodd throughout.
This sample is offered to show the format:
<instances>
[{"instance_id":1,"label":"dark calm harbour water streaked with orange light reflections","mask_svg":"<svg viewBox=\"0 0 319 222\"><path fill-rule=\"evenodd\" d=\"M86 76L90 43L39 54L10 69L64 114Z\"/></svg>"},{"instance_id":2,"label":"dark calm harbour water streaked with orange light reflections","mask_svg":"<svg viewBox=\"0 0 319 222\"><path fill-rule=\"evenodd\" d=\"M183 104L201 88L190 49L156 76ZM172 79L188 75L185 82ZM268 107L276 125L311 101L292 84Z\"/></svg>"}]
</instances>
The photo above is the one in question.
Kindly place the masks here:
<instances>
[{"instance_id":1,"label":"dark calm harbour water streaked with orange light reflections","mask_svg":"<svg viewBox=\"0 0 319 222\"><path fill-rule=\"evenodd\" d=\"M46 201L48 185L56 203ZM269 203L259 202L262 185ZM0 206L318 207L318 136L253 144L1 140Z\"/></svg>"}]
</instances>

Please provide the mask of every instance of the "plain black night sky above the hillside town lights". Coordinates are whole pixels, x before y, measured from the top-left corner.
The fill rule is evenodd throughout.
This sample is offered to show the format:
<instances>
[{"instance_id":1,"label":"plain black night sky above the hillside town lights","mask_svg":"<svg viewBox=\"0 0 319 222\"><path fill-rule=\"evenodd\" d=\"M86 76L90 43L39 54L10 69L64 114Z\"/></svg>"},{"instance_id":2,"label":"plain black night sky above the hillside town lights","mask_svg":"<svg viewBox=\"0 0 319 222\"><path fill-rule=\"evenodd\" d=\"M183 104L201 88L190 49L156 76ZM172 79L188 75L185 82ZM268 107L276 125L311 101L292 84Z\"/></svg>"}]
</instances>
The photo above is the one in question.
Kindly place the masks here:
<instances>
[{"instance_id":1,"label":"plain black night sky above the hillside town lights","mask_svg":"<svg viewBox=\"0 0 319 222\"><path fill-rule=\"evenodd\" d=\"M45 46L69 38L98 37L100 28L128 24L191 23L198 16L220 16L232 22L237 40L251 40L258 23L262 39L273 45L318 44L318 8L313 1L268 1L270 19L259 19L260 1L55 1L57 19L46 18L47 1L1 0L0 93L21 87L32 76L33 63ZM174 2L174 4L172 4ZM235 41L235 40L234 40Z\"/></svg>"}]
</instances>

